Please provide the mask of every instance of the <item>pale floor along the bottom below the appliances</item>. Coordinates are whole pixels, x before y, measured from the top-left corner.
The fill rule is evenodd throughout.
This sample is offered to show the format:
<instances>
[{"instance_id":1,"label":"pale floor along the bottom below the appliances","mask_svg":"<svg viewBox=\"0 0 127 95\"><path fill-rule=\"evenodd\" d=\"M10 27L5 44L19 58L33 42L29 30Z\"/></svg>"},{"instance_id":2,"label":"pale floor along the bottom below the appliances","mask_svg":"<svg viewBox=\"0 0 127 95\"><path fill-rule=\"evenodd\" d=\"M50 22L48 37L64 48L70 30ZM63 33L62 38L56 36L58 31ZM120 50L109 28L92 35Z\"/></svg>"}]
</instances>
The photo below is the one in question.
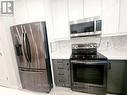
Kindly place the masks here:
<instances>
[{"instance_id":1,"label":"pale floor along the bottom below the appliances","mask_svg":"<svg viewBox=\"0 0 127 95\"><path fill-rule=\"evenodd\" d=\"M0 86L0 95L93 95L93 94L73 92L69 88L62 88L62 87L56 87L52 89L52 91L49 94L47 94L47 93L38 93L28 90L18 90L18 89L12 89L12 88L6 88Z\"/></svg>"}]
</instances>

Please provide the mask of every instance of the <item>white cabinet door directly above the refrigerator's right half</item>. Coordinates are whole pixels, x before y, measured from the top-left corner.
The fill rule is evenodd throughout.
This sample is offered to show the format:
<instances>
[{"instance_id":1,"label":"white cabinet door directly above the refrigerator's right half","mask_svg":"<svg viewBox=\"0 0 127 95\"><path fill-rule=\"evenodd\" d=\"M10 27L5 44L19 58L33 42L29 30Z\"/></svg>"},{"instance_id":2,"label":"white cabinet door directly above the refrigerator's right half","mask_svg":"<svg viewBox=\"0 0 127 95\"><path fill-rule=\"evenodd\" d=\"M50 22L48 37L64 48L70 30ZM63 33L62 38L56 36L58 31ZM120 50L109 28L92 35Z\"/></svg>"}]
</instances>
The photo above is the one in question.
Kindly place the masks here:
<instances>
[{"instance_id":1,"label":"white cabinet door directly above the refrigerator's right half","mask_svg":"<svg viewBox=\"0 0 127 95\"><path fill-rule=\"evenodd\" d=\"M44 0L26 0L29 22L42 21L45 18Z\"/></svg>"}]
</instances>

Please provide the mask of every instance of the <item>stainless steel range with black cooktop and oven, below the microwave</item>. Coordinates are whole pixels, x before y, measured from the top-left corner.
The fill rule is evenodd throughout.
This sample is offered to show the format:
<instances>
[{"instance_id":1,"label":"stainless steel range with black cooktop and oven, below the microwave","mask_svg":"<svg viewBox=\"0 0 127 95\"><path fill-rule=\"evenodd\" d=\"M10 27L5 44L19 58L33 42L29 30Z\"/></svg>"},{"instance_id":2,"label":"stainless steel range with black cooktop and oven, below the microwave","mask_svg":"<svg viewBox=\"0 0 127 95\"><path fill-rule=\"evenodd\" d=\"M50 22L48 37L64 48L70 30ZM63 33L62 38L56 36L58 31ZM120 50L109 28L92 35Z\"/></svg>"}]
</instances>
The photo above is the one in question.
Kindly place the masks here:
<instances>
[{"instance_id":1,"label":"stainless steel range with black cooktop and oven, below the microwave","mask_svg":"<svg viewBox=\"0 0 127 95\"><path fill-rule=\"evenodd\" d=\"M108 60L97 52L96 43L73 44L70 64L73 91L106 94Z\"/></svg>"}]
</instances>

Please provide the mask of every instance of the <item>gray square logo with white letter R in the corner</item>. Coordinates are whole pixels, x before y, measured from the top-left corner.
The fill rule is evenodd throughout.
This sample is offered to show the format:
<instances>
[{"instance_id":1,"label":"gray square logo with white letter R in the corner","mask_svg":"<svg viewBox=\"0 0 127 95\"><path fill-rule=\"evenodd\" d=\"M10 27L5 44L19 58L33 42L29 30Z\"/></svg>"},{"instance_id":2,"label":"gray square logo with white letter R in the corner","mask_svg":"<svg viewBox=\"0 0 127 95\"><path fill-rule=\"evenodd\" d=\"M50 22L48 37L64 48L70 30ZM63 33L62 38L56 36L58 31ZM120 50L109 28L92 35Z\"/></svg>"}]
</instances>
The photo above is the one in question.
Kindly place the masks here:
<instances>
[{"instance_id":1,"label":"gray square logo with white letter R in the corner","mask_svg":"<svg viewBox=\"0 0 127 95\"><path fill-rule=\"evenodd\" d=\"M14 1L1 1L1 15L14 14Z\"/></svg>"}]
</instances>

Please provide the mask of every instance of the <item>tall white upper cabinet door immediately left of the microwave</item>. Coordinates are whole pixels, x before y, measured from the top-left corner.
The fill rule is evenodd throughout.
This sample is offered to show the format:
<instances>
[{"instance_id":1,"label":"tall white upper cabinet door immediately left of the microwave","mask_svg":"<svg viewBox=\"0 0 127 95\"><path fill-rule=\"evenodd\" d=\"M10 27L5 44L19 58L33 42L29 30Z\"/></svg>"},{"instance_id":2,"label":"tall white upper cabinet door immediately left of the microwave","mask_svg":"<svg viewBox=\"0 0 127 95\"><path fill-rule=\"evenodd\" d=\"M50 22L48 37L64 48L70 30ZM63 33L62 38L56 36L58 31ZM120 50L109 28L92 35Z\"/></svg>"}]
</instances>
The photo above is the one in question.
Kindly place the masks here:
<instances>
[{"instance_id":1,"label":"tall white upper cabinet door immediately left of the microwave","mask_svg":"<svg viewBox=\"0 0 127 95\"><path fill-rule=\"evenodd\" d=\"M69 22L67 0L53 0L52 13L53 13L53 26L54 26L54 39L69 38Z\"/></svg>"}]
</instances>

